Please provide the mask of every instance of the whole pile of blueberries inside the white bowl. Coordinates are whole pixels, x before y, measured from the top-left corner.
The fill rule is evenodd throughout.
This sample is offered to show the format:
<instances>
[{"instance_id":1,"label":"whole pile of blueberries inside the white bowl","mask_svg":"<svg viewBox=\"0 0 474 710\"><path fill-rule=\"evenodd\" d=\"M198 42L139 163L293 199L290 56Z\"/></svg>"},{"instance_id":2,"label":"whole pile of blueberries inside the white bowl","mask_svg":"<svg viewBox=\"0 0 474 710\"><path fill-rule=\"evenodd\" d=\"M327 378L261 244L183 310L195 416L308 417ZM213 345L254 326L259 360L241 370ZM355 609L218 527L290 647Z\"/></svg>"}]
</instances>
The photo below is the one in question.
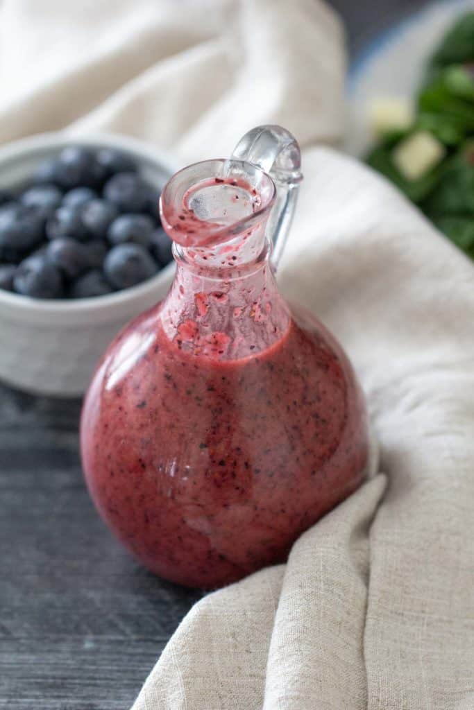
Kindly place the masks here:
<instances>
[{"instance_id":1,"label":"whole pile of blueberries inside the white bowl","mask_svg":"<svg viewBox=\"0 0 474 710\"><path fill-rule=\"evenodd\" d=\"M0 288L85 298L150 278L172 258L159 194L122 151L64 148L21 190L0 190Z\"/></svg>"}]
</instances>

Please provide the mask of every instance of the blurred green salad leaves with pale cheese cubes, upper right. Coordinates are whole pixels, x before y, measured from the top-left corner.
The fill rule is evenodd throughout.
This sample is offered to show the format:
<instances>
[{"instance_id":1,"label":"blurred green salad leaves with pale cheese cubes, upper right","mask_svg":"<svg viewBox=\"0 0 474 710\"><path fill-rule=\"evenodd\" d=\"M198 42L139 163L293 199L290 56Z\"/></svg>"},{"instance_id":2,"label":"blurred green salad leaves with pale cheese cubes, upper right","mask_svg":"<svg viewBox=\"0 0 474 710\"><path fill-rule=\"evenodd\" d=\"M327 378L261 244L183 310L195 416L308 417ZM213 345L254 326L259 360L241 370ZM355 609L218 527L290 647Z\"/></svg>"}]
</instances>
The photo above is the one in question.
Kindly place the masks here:
<instances>
[{"instance_id":1,"label":"blurred green salad leaves with pale cheese cubes, upper right","mask_svg":"<svg viewBox=\"0 0 474 710\"><path fill-rule=\"evenodd\" d=\"M474 259L474 12L431 57L409 124L379 133L367 163Z\"/></svg>"}]
</instances>

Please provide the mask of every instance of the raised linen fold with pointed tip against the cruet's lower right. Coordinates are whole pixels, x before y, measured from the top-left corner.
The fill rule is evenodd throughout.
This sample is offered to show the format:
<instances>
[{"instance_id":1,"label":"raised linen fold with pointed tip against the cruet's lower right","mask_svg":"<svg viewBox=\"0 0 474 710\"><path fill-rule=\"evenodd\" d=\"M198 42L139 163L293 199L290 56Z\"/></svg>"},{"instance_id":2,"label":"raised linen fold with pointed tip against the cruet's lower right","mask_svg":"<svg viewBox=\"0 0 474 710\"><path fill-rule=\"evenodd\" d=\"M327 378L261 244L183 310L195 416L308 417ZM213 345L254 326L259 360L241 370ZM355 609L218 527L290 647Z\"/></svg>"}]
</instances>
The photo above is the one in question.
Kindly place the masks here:
<instances>
[{"instance_id":1,"label":"raised linen fold with pointed tip against the cruet's lower right","mask_svg":"<svg viewBox=\"0 0 474 710\"><path fill-rule=\"evenodd\" d=\"M266 668L264 710L367 707L363 654L369 529L384 493L368 481L293 545Z\"/></svg>"}]
</instances>

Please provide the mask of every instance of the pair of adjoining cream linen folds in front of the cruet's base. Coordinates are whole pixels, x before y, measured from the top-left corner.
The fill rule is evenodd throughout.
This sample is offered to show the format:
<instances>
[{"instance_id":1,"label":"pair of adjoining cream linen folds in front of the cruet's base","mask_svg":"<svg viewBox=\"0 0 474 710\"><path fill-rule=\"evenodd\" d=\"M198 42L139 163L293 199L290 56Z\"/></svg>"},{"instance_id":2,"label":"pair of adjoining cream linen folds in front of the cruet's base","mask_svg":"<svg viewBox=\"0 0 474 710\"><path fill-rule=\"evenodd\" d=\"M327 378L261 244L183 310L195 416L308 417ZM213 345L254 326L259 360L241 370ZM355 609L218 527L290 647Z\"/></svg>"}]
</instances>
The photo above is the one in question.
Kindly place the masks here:
<instances>
[{"instance_id":1,"label":"pair of adjoining cream linen folds in front of the cruet's base","mask_svg":"<svg viewBox=\"0 0 474 710\"><path fill-rule=\"evenodd\" d=\"M363 631L376 476L294 545L284 567L210 594L186 616L133 710L365 708Z\"/></svg>"}]
</instances>

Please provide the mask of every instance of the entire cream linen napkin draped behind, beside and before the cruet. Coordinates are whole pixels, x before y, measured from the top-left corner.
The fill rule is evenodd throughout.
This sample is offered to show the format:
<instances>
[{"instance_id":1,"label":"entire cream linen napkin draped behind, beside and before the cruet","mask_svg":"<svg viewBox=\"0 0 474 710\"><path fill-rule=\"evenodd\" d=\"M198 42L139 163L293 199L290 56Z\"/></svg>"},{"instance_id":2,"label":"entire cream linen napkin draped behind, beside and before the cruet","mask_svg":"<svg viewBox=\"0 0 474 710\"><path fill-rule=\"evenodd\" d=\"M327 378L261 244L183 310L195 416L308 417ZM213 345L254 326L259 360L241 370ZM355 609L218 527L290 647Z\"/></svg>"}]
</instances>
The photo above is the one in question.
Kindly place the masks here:
<instances>
[{"instance_id":1,"label":"entire cream linen napkin draped behind, beside and before the cruet","mask_svg":"<svg viewBox=\"0 0 474 710\"><path fill-rule=\"evenodd\" d=\"M0 12L2 141L72 124L189 160L263 122L304 145L342 131L341 34L316 0ZM310 148L303 169L280 282L348 349L386 475L288 564L200 601L134 710L473 710L473 267L354 161Z\"/></svg>"}]
</instances>

